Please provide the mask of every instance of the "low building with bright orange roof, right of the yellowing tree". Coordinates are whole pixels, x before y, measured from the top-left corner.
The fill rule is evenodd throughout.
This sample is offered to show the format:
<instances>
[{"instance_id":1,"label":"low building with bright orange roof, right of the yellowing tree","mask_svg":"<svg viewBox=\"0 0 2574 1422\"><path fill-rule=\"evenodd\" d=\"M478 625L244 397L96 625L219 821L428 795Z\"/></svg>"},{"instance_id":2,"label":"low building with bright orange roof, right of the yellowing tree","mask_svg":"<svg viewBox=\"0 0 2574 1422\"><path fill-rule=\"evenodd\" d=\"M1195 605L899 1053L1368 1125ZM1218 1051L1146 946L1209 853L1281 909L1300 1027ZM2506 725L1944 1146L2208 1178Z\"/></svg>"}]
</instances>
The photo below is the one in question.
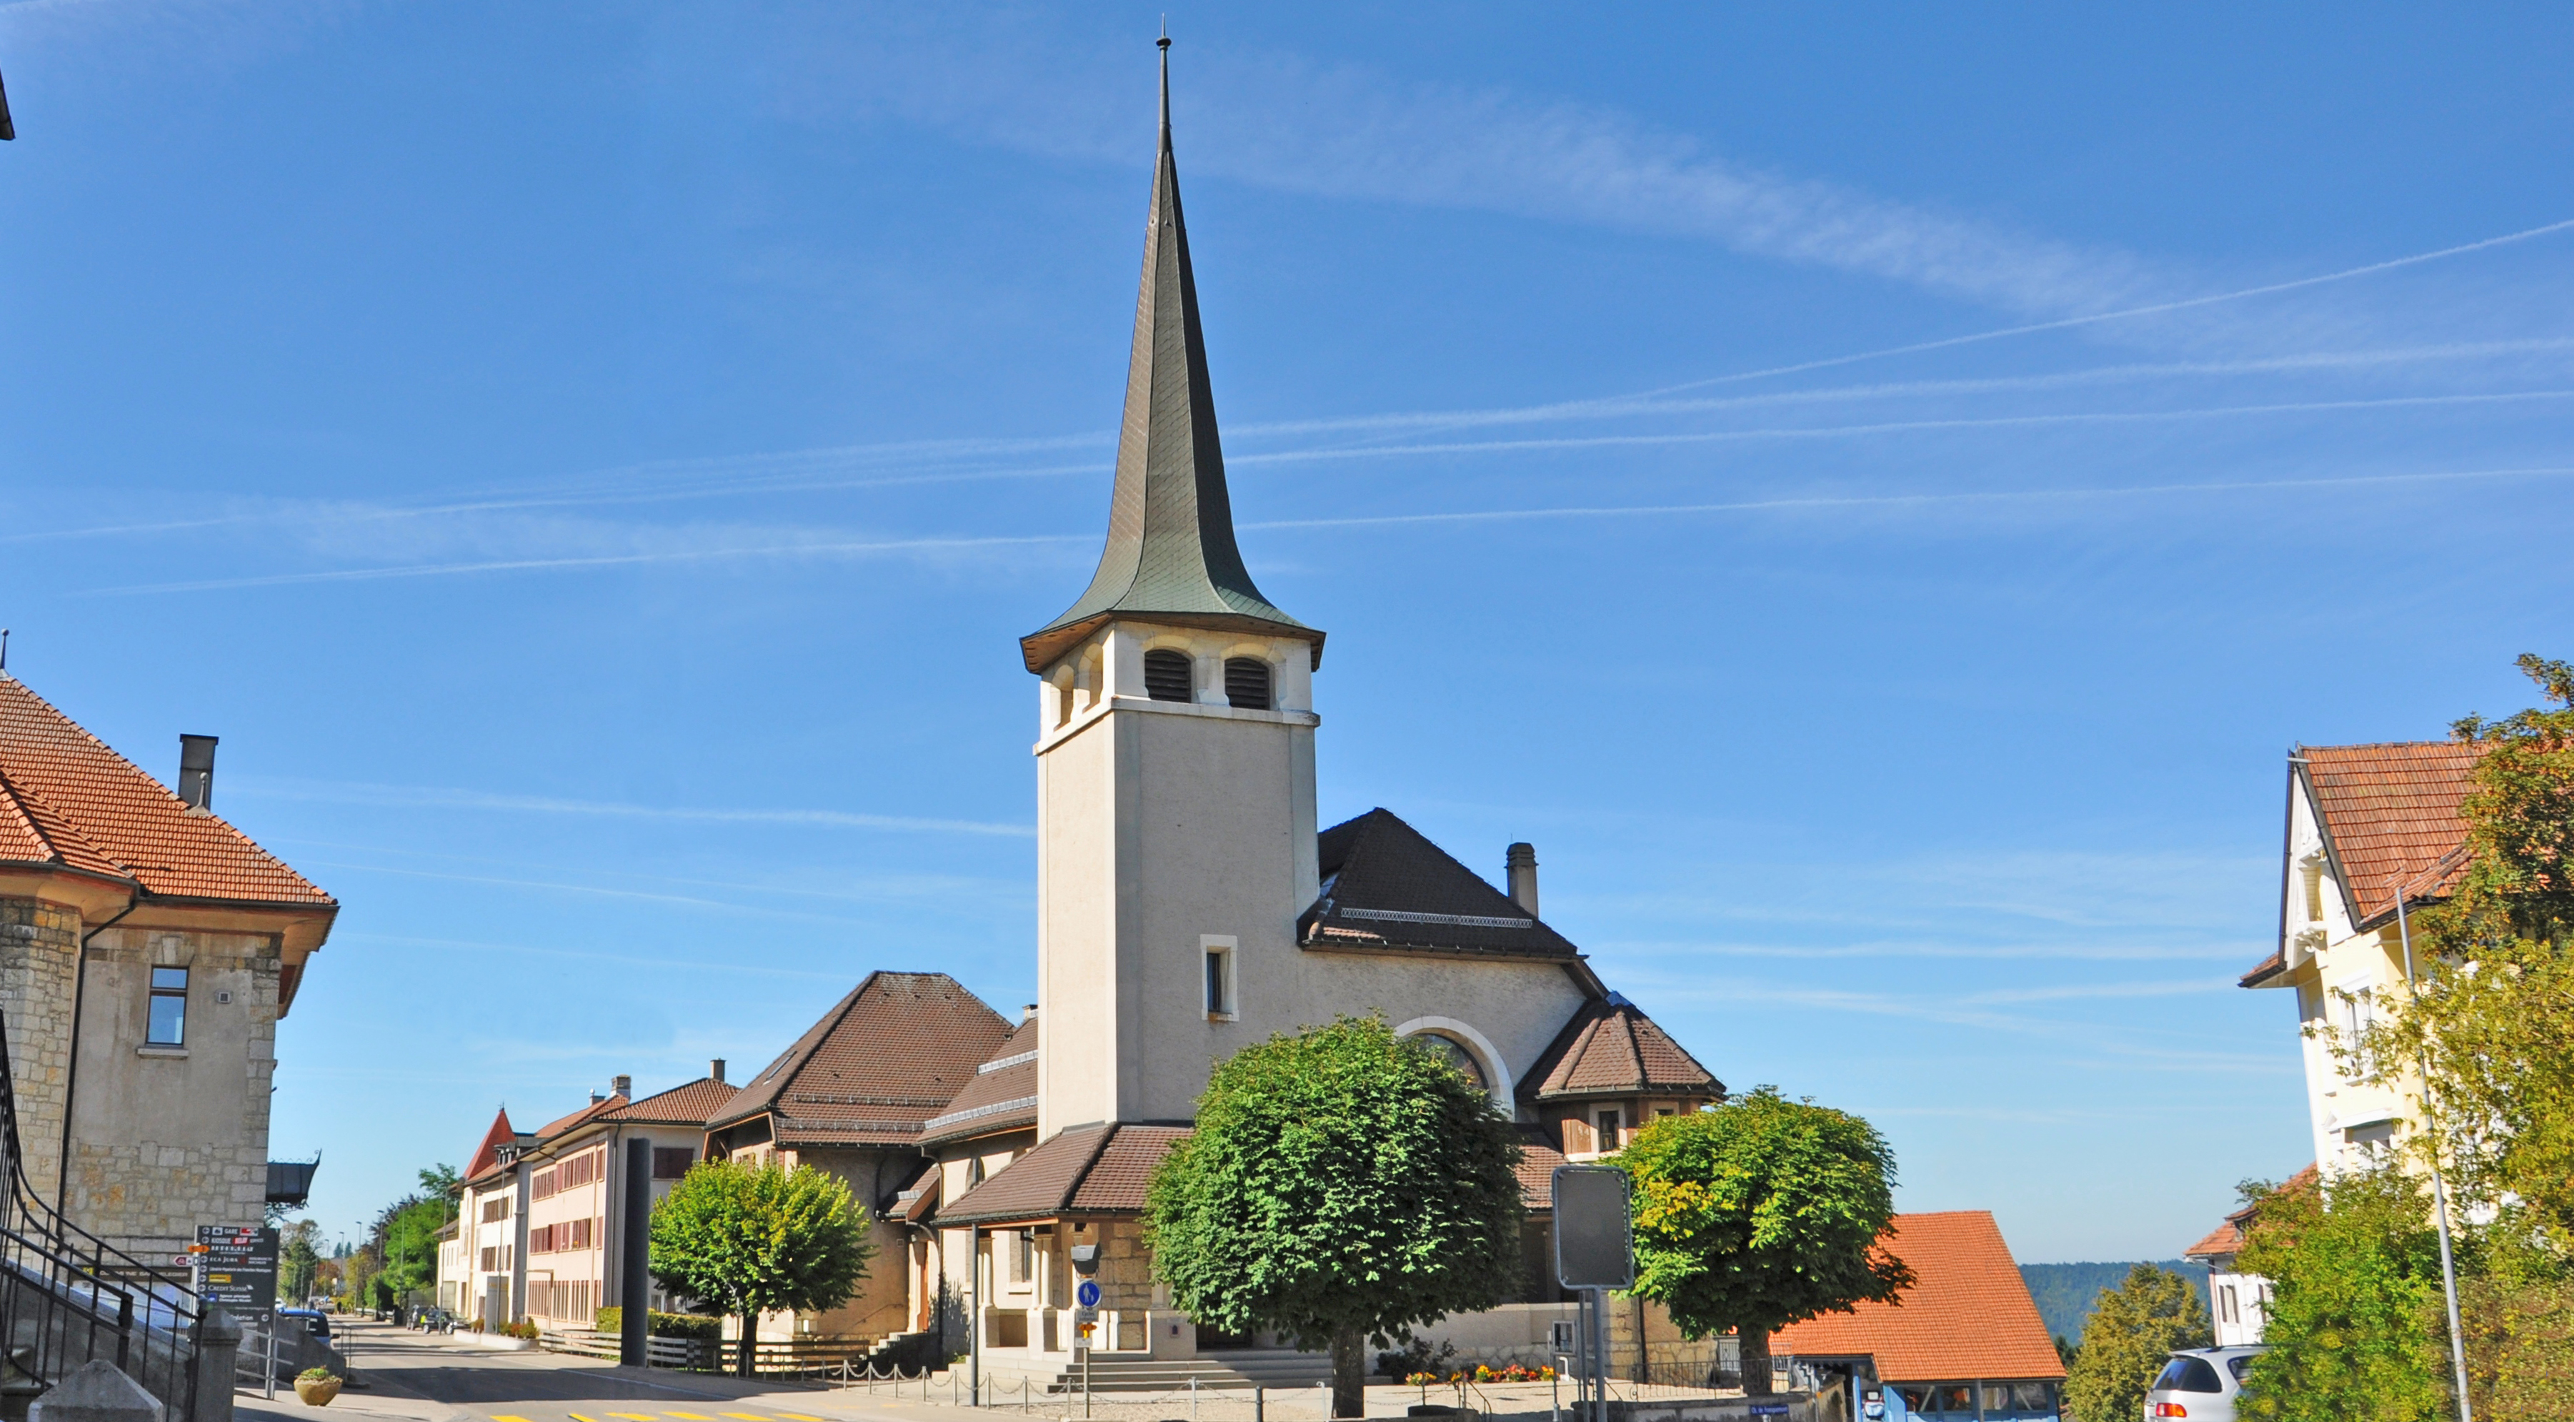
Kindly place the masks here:
<instances>
[{"instance_id":1,"label":"low building with bright orange roof, right of the yellowing tree","mask_svg":"<svg viewBox=\"0 0 2574 1422\"><path fill-rule=\"evenodd\" d=\"M2064 1363L1992 1213L1894 1216L1887 1244L1918 1280L1902 1304L1779 1329L1776 1381L1820 1391L1825 1417L1879 1417L1874 1394L1889 1422L2054 1422Z\"/></svg>"}]
</instances>

